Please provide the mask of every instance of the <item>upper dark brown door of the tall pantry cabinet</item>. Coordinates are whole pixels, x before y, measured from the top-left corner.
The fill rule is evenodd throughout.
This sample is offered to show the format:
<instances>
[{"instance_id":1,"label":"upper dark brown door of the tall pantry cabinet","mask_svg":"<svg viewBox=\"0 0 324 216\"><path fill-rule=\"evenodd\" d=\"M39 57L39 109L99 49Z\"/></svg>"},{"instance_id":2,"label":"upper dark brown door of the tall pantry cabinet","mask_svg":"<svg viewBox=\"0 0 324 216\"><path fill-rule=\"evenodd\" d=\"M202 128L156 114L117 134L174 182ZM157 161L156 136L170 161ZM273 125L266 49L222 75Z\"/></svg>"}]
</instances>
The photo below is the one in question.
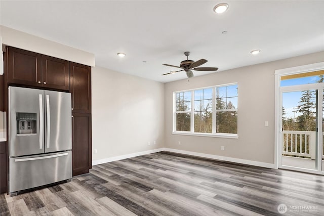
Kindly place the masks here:
<instances>
[{"instance_id":1,"label":"upper dark brown door of the tall pantry cabinet","mask_svg":"<svg viewBox=\"0 0 324 216\"><path fill-rule=\"evenodd\" d=\"M72 112L91 113L91 67L70 62Z\"/></svg>"}]
</instances>

